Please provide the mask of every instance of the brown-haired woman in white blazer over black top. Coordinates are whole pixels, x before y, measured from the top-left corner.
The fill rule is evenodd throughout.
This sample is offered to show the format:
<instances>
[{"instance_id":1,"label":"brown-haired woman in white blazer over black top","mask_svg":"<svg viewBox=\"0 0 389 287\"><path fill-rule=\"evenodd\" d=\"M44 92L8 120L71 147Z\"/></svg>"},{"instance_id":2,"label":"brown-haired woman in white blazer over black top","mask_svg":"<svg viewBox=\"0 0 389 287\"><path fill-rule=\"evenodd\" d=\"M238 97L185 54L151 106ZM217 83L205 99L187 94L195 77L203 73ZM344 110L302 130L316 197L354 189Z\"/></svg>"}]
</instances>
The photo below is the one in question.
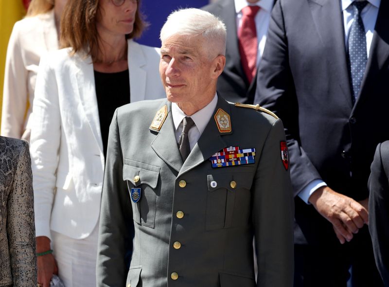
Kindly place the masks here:
<instances>
[{"instance_id":1,"label":"brown-haired woman in white blazer over black top","mask_svg":"<svg viewBox=\"0 0 389 287\"><path fill-rule=\"evenodd\" d=\"M31 155L36 248L42 254L38 283L43 286L56 267L66 287L96 286L98 219L113 107L120 101L165 96L159 49L131 39L140 36L143 25L139 0L68 0L61 22L61 44L68 48L40 62Z\"/></svg>"}]
</instances>

